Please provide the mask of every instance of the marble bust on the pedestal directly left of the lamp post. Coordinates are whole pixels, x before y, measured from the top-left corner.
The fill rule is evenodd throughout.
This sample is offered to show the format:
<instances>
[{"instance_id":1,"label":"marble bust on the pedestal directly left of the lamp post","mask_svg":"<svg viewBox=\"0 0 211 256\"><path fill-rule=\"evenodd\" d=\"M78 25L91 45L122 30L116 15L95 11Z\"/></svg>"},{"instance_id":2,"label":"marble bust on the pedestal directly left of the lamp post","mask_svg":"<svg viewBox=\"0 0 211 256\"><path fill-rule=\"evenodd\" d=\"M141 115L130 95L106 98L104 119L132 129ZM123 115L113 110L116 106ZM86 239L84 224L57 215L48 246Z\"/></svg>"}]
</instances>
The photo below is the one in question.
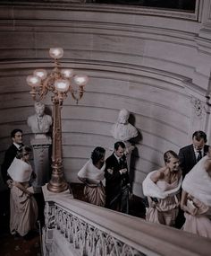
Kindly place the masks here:
<instances>
[{"instance_id":1,"label":"marble bust on the pedestal directly left of the lamp post","mask_svg":"<svg viewBox=\"0 0 211 256\"><path fill-rule=\"evenodd\" d=\"M30 116L27 120L35 138L46 138L46 133L52 125L52 117L45 114L45 104L42 102L35 102L35 114Z\"/></svg>"}]
</instances>

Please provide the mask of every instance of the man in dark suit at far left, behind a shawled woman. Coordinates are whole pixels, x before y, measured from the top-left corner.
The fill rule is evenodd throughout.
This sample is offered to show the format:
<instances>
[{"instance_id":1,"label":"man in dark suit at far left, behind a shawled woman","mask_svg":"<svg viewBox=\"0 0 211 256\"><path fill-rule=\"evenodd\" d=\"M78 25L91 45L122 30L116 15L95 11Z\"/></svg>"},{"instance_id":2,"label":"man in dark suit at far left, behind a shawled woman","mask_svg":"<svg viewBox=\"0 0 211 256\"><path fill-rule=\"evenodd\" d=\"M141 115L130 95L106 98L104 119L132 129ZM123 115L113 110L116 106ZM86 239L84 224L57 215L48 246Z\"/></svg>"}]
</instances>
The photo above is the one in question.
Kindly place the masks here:
<instances>
[{"instance_id":1,"label":"man in dark suit at far left, behind a shawled woman","mask_svg":"<svg viewBox=\"0 0 211 256\"><path fill-rule=\"evenodd\" d=\"M11 137L13 144L6 150L4 155L4 162L2 164L2 177L4 183L8 186L10 185L11 178L7 174L7 170L13 162L14 157L16 156L18 150L23 146L22 144L22 130L20 128L15 128L11 132Z\"/></svg>"}]
</instances>

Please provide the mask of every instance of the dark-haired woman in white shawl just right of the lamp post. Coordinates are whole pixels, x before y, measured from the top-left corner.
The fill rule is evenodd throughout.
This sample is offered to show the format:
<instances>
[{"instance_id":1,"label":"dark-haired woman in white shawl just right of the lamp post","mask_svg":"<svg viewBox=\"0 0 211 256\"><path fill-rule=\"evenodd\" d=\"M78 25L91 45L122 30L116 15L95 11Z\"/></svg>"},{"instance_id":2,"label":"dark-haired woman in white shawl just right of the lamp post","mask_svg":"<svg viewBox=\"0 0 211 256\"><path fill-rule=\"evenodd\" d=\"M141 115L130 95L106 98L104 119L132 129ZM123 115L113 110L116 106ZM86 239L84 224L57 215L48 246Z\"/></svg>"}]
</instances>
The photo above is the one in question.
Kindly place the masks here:
<instances>
[{"instance_id":1,"label":"dark-haired woman in white shawl just right of the lamp post","mask_svg":"<svg viewBox=\"0 0 211 256\"><path fill-rule=\"evenodd\" d=\"M87 201L99 207L105 206L105 149L97 146L91 154L91 159L80 169L78 178L85 183L84 195Z\"/></svg>"}]
</instances>

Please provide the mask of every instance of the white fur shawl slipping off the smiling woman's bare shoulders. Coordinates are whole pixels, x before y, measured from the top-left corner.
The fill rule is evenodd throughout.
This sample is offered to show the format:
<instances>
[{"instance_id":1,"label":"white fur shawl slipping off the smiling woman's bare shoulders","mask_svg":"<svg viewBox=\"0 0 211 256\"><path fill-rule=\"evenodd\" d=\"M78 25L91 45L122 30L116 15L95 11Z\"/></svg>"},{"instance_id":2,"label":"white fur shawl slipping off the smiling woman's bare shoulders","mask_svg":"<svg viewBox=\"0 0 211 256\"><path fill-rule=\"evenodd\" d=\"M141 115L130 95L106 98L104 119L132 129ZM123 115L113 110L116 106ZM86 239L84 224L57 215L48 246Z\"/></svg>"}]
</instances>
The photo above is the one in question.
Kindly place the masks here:
<instances>
[{"instance_id":1,"label":"white fur shawl slipping off the smiling woman's bare shoulders","mask_svg":"<svg viewBox=\"0 0 211 256\"><path fill-rule=\"evenodd\" d=\"M180 178L180 181L178 182L178 185L173 188L173 190L166 190L163 191L161 190L156 183L154 183L151 179L150 176L157 171L149 172L148 176L142 183L142 189L143 189L143 194L146 197L152 197L152 198L157 198L157 199L165 199L167 197L173 197L176 195L180 189L181 189L181 181L182 177Z\"/></svg>"}]
</instances>

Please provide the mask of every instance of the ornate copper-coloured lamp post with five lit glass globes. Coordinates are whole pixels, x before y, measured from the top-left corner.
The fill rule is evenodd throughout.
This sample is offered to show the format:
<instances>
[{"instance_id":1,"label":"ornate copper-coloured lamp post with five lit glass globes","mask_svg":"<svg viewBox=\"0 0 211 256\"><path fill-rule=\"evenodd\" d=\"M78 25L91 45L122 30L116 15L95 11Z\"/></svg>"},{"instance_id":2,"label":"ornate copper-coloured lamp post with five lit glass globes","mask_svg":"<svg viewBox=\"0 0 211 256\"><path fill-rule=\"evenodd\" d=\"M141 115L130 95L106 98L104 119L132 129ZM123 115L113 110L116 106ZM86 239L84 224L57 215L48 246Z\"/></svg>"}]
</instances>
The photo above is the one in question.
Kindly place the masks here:
<instances>
[{"instance_id":1,"label":"ornate copper-coloured lamp post with five lit glass globes","mask_svg":"<svg viewBox=\"0 0 211 256\"><path fill-rule=\"evenodd\" d=\"M75 75L72 69L61 68L59 59L63 57L62 48L52 48L49 50L49 54L55 62L55 67L51 73L47 74L45 69L36 69L33 75L27 77L27 83L31 87L30 94L35 101L43 100L49 91L53 94L52 175L47 184L47 190L59 193L68 189L68 184L63 177L61 108L68 92L78 103L83 96L84 85L88 82L88 76ZM75 86L77 89L74 88Z\"/></svg>"}]
</instances>

